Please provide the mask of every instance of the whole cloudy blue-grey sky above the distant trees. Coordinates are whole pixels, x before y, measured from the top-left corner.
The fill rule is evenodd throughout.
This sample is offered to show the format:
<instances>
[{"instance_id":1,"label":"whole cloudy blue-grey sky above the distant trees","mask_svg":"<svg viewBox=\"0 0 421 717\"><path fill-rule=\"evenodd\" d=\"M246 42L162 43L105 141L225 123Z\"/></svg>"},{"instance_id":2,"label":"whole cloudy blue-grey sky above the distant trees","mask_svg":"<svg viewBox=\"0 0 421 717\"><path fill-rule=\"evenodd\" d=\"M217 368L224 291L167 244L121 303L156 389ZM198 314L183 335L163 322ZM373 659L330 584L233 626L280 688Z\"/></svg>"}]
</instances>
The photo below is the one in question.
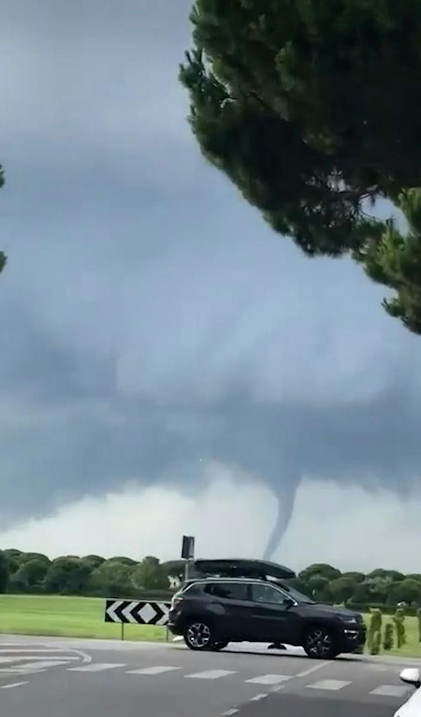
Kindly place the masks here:
<instances>
[{"instance_id":1,"label":"whole cloudy blue-grey sky above the distant trees","mask_svg":"<svg viewBox=\"0 0 421 717\"><path fill-rule=\"evenodd\" d=\"M373 526L399 512L372 556L399 567L420 548L402 516L420 507L421 339L359 267L308 260L204 162L177 82L189 6L3 5L1 543L48 551L51 527L64 551L112 553L98 519L116 552L170 556L194 505L204 551L260 556L279 500L295 513L276 555L351 564L355 499ZM232 529L212 543L214 495ZM145 505L174 506L164 540Z\"/></svg>"}]
</instances>

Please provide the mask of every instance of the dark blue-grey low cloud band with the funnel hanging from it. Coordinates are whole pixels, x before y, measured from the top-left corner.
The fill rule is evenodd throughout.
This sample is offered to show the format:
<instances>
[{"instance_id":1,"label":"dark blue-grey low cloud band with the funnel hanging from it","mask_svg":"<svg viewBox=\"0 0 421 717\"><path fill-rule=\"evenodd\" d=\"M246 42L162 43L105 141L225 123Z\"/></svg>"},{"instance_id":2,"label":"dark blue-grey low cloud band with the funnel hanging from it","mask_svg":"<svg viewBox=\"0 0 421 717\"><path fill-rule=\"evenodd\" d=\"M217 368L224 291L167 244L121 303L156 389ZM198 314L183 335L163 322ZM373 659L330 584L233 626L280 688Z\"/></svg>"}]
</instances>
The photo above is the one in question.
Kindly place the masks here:
<instances>
[{"instance_id":1,"label":"dark blue-grey low cloud band with the funnel hanging from it","mask_svg":"<svg viewBox=\"0 0 421 717\"><path fill-rule=\"evenodd\" d=\"M358 403L262 402L245 390L215 402L153 402L119 394L115 360L65 351L16 305L2 331L21 360L2 362L1 381L24 397L2 421L3 527L133 480L201 490L209 461L270 486L281 512L290 506L284 525L304 475L397 495L419 483L421 410L409 375Z\"/></svg>"}]
</instances>

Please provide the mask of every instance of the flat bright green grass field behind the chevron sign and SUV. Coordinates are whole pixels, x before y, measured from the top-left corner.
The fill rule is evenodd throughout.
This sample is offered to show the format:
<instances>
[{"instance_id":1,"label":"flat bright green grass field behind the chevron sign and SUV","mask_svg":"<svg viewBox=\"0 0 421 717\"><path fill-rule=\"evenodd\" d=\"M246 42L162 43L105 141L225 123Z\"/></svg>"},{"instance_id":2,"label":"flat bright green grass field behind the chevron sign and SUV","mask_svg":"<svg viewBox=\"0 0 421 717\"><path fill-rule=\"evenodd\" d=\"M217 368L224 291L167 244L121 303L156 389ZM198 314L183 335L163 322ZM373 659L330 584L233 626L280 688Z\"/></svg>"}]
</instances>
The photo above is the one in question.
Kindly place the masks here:
<instances>
[{"instance_id":1,"label":"flat bright green grass field behind the chevron sign and SUV","mask_svg":"<svg viewBox=\"0 0 421 717\"><path fill-rule=\"evenodd\" d=\"M16 635L57 635L60 637L100 637L119 640L120 625L104 622L105 600L95 597L38 595L0 595L0 632ZM369 623L369 615L365 616ZM384 624L391 618L384 616ZM420 657L418 622L405 618L407 644L387 655ZM165 640L164 627L125 625L126 640ZM171 637L170 637L171 639Z\"/></svg>"}]
</instances>

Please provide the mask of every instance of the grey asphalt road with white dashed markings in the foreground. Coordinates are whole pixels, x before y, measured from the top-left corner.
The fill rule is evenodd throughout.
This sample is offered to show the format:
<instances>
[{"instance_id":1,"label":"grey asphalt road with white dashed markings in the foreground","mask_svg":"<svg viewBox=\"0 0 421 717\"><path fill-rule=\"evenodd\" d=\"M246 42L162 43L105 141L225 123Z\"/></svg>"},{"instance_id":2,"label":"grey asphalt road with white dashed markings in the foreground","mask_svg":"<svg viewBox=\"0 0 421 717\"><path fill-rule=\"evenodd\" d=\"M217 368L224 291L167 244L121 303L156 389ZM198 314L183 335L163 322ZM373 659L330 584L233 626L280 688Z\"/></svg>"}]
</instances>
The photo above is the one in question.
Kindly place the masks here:
<instances>
[{"instance_id":1,"label":"grey asphalt road with white dashed markings in the foreground","mask_svg":"<svg viewBox=\"0 0 421 717\"><path fill-rule=\"evenodd\" d=\"M392 717L410 694L397 660L300 650L0 637L7 717Z\"/></svg>"}]
</instances>

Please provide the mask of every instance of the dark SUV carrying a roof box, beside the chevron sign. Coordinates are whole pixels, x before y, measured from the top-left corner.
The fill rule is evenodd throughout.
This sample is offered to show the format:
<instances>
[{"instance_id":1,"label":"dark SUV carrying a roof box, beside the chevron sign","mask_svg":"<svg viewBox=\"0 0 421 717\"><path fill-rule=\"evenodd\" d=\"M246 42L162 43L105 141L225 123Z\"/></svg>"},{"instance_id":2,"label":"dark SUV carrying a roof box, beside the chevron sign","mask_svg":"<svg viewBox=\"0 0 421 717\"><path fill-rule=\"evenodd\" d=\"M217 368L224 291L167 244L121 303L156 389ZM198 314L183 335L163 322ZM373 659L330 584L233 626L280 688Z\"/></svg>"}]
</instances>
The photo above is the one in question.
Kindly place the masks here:
<instances>
[{"instance_id":1,"label":"dark SUV carrying a roof box, beside the chevron sign","mask_svg":"<svg viewBox=\"0 0 421 717\"><path fill-rule=\"evenodd\" d=\"M197 578L174 595L169 628L174 635L183 635L191 650L222 650L228 642L285 642L301 645L309 657L326 660L364 645L366 628L361 615L319 604L285 581L281 583L281 572L290 577L292 571L276 566L278 573L273 581L263 574L273 566L269 563L197 561L196 566L219 566L218 572L226 574L222 563L230 568L231 575L245 572L252 576ZM241 564L246 567L241 568ZM256 575L256 565L262 571L260 576ZM271 567L269 575L273 572Z\"/></svg>"}]
</instances>

